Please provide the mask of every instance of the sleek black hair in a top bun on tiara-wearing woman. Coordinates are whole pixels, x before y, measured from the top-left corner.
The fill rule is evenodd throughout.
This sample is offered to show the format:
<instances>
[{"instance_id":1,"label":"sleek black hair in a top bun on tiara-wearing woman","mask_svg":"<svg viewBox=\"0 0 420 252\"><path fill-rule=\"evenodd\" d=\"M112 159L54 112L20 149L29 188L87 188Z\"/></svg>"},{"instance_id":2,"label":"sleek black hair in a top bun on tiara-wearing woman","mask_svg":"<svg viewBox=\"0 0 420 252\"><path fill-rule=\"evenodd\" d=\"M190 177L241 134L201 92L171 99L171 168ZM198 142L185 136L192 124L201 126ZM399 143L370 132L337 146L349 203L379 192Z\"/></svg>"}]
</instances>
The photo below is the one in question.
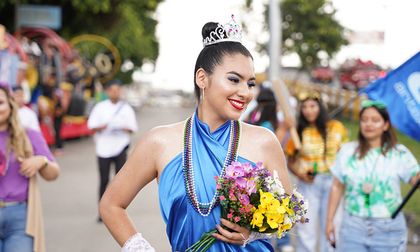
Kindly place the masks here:
<instances>
[{"instance_id":1,"label":"sleek black hair in a top bun on tiara-wearing woman","mask_svg":"<svg viewBox=\"0 0 420 252\"><path fill-rule=\"evenodd\" d=\"M210 35L210 32L214 31L218 26L218 23L215 22L208 22L203 26L201 31L201 35L203 40ZM227 34L225 34L227 36ZM251 53L246 49L239 42L230 42L225 41L221 43L216 43L212 45L205 46L200 54L197 57L197 61L195 63L194 68L194 91L195 96L198 100L200 100L200 88L197 86L197 82L195 79L195 73L198 69L202 68L208 74L212 74L214 68L220 64L222 64L223 56L225 55L233 55L233 54L242 54L244 56L250 57L253 59Z\"/></svg>"}]
</instances>

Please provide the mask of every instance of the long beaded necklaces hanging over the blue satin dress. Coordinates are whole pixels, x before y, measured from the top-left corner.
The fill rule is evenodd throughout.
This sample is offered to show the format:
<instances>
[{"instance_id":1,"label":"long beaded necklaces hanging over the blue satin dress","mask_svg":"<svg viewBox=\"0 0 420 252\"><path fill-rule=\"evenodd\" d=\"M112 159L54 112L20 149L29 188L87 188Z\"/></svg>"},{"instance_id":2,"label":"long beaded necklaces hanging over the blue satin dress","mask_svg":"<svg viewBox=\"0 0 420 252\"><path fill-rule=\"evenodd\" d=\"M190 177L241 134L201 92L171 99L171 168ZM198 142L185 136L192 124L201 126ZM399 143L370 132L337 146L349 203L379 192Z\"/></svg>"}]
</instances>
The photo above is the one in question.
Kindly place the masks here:
<instances>
[{"instance_id":1,"label":"long beaded necklaces hanging over the blue satin dress","mask_svg":"<svg viewBox=\"0 0 420 252\"><path fill-rule=\"evenodd\" d=\"M210 202L200 202L197 197L197 191L195 187L195 178L194 178L194 167L192 160L192 126L194 116L191 116L187 119L184 129L184 153L182 156L182 167L184 173L184 185L185 190L188 195L188 199L194 209L201 216L208 216L211 210L217 206L219 203L219 194L216 192L213 195L213 198ZM230 136L229 136L229 147L226 154L225 162L223 164L222 170L220 171L220 176L224 176L226 172L226 167L229 166L232 161L236 161L238 145L239 145L239 135L240 135L240 123L238 121L230 122Z\"/></svg>"}]
</instances>

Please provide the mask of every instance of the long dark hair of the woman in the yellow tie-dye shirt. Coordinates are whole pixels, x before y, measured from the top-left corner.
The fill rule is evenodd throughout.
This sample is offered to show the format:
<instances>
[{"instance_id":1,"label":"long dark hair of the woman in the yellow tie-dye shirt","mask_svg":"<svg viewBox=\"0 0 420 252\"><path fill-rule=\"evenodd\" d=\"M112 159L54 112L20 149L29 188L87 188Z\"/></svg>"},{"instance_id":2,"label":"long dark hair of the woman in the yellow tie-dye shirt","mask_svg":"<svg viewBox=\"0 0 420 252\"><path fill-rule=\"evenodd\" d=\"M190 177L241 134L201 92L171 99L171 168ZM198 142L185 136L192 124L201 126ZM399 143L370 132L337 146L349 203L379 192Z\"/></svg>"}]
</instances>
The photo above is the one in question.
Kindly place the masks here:
<instances>
[{"instance_id":1,"label":"long dark hair of the woman in the yellow tie-dye shirt","mask_svg":"<svg viewBox=\"0 0 420 252\"><path fill-rule=\"evenodd\" d=\"M308 100L315 101L319 106L319 114L315 120L315 127L318 130L319 134L321 134L322 139L324 140L324 154L325 154L327 150L327 122L329 121L327 108L325 107L321 99L308 98L306 100L301 101L301 104L303 104L304 102ZM310 123L308 122L308 120L306 120L305 116L302 113L302 108L300 108L297 132L299 134L299 138L301 141L302 141L303 130L309 127L309 125Z\"/></svg>"}]
</instances>

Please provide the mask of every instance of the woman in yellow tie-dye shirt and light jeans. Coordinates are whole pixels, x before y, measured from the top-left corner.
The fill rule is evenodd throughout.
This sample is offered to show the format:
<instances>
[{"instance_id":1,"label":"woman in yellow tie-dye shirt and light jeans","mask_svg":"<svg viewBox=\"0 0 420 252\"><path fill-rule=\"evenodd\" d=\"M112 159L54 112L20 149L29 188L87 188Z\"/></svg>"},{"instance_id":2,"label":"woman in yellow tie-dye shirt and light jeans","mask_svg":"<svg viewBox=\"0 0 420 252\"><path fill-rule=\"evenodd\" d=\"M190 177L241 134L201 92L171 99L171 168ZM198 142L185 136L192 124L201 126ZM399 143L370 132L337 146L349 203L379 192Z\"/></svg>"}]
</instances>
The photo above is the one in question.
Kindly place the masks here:
<instances>
[{"instance_id":1,"label":"woman in yellow tie-dye shirt and light jeans","mask_svg":"<svg viewBox=\"0 0 420 252\"><path fill-rule=\"evenodd\" d=\"M347 130L342 123L328 118L317 91L298 94L297 131L302 146L297 150L289 140L285 147L288 167L298 179L298 188L308 200L309 223L297 225L297 251L317 251L319 225L325 229L327 204L332 176L329 168L343 142ZM331 249L325 234L319 237L319 251Z\"/></svg>"}]
</instances>

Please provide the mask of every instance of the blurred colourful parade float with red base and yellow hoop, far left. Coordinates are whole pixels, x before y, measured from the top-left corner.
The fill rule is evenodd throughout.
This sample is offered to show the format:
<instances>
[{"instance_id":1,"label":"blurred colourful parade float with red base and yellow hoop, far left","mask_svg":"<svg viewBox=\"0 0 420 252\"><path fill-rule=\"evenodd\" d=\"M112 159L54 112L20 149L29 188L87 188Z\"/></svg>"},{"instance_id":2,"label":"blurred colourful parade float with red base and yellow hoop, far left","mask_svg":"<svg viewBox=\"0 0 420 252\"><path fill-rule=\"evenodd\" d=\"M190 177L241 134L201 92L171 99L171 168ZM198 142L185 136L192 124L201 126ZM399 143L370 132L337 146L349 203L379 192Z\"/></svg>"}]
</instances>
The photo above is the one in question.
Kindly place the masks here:
<instances>
[{"instance_id":1,"label":"blurred colourful parade float with red base and yellow hoop, far left","mask_svg":"<svg viewBox=\"0 0 420 252\"><path fill-rule=\"evenodd\" d=\"M93 34L69 42L44 27L3 33L0 70L8 71L0 71L0 80L11 88L24 88L27 105L37 112L47 143L55 143L56 131L63 140L92 135L87 118L93 105L104 98L103 83L120 68L117 48ZM61 126L57 128L58 117Z\"/></svg>"}]
</instances>

